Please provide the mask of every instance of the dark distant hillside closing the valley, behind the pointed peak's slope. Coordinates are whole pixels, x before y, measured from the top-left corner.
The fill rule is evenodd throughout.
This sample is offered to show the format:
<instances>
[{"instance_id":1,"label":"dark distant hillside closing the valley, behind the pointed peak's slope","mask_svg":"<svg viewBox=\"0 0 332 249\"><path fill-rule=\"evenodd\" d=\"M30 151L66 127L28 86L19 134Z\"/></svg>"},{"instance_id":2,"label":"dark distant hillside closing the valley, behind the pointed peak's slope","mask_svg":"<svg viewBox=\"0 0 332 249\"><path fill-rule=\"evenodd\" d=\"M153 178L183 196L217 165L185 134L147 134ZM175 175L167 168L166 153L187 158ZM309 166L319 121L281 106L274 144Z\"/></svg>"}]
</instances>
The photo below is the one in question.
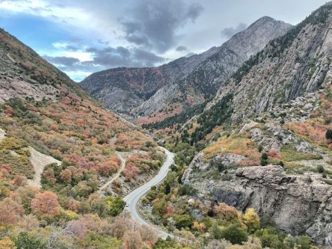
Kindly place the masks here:
<instances>
[{"instance_id":1,"label":"dark distant hillside closing the valley, behind the pointed peak's slope","mask_svg":"<svg viewBox=\"0 0 332 249\"><path fill-rule=\"evenodd\" d=\"M158 89L187 75L218 48L200 55L182 57L155 68L112 68L93 73L80 84L113 111L130 114Z\"/></svg>"}]
</instances>

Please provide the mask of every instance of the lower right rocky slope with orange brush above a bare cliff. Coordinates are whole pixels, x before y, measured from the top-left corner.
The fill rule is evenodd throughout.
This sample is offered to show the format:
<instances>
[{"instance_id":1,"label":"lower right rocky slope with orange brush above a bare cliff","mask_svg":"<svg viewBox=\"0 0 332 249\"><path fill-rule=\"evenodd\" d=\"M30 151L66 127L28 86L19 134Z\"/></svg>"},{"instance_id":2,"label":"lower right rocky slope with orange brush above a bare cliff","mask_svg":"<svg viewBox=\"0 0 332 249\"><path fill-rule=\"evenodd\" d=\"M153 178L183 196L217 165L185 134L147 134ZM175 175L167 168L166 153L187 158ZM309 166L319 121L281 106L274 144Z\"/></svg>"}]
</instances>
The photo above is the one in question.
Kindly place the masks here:
<instances>
[{"instance_id":1,"label":"lower right rocky slope with orange brush above a bare cliff","mask_svg":"<svg viewBox=\"0 0 332 249\"><path fill-rule=\"evenodd\" d=\"M329 92L299 97L222 131L192 160L183 182L206 199L243 212L255 208L279 230L332 246L332 153L324 138L332 128L324 122L331 118Z\"/></svg>"}]
</instances>

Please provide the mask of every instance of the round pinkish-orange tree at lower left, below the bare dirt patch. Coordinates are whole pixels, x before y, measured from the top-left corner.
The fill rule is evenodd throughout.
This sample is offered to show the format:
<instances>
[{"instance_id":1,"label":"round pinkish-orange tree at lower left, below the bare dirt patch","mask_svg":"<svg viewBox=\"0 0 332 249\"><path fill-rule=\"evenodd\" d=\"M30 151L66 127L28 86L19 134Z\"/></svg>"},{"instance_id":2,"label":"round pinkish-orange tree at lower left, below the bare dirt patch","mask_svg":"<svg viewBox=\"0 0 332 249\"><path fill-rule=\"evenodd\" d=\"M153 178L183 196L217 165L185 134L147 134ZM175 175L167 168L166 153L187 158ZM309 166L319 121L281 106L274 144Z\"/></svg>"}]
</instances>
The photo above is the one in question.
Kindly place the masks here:
<instances>
[{"instance_id":1,"label":"round pinkish-orange tree at lower left, below the bare dirt patch","mask_svg":"<svg viewBox=\"0 0 332 249\"><path fill-rule=\"evenodd\" d=\"M36 194L35 199L31 201L31 209L34 213L46 218L54 218L60 214L60 205L57 201L57 195L46 191Z\"/></svg>"}]
</instances>

